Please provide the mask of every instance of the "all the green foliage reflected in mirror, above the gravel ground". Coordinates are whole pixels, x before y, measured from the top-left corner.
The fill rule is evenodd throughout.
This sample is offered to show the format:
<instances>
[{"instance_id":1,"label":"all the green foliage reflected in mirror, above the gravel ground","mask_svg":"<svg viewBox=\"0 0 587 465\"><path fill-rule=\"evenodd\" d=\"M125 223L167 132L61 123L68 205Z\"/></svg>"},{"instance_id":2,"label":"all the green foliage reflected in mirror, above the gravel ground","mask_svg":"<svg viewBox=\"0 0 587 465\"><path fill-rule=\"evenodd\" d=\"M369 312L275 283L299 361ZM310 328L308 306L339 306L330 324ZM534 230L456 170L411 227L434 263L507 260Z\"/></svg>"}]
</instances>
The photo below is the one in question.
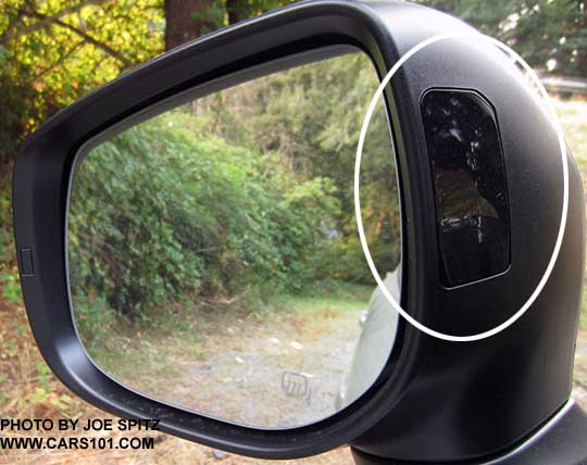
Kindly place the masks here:
<instances>
[{"instance_id":1,"label":"all the green foliage reflected in mirror, above the gravel ground","mask_svg":"<svg viewBox=\"0 0 587 465\"><path fill-rule=\"evenodd\" d=\"M275 293L322 278L372 284L352 172L376 86L369 60L347 55L211 96L92 150L76 174L68 232L76 305L96 313L87 329L109 325L97 316L108 307L145 319L145 307L250 285ZM382 273L401 246L389 137L379 105L361 197Z\"/></svg>"}]
</instances>

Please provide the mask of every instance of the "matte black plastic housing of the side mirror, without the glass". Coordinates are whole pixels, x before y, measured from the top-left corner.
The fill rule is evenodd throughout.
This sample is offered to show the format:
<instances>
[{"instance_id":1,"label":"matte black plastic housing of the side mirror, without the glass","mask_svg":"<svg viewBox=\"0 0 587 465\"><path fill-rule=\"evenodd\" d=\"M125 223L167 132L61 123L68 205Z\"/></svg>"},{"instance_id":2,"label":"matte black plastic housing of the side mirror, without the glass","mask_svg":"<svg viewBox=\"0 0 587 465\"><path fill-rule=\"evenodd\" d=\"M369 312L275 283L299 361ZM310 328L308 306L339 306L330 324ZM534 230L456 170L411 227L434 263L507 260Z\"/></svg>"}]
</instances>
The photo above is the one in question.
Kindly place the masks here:
<instances>
[{"instance_id":1,"label":"matte black plastic housing of the side mirror, without the glass","mask_svg":"<svg viewBox=\"0 0 587 465\"><path fill-rule=\"evenodd\" d=\"M349 407L312 425L250 428L139 394L92 363L73 321L65 240L68 192L76 163L107 134L195 93L315 60L341 46L364 51L383 78L410 48L447 32L473 29L410 3L300 2L165 53L43 124L16 159L14 224L29 322L57 376L102 410L159 418L168 433L263 458L308 456L347 443L359 453L402 461L480 458L514 447L555 415L571 393L585 255L583 189L571 156L563 244L549 282L527 314L499 335L466 345L402 323L400 348L388 361L394 369L384 369ZM434 155L434 131L423 117L430 91L467 92L492 113L491 150L501 156L490 177L499 189L479 191L484 199L501 193L504 205L498 212L501 224L494 228L496 242L483 254L495 256L499 249L501 255L495 266L472 274L469 265L450 264L454 252L450 263L444 256L452 249L441 239L435 176L441 164ZM387 86L385 100L401 186L402 306L439 331L488 330L525 302L550 259L563 194L555 131L508 59L473 42L444 41L422 51Z\"/></svg>"}]
</instances>

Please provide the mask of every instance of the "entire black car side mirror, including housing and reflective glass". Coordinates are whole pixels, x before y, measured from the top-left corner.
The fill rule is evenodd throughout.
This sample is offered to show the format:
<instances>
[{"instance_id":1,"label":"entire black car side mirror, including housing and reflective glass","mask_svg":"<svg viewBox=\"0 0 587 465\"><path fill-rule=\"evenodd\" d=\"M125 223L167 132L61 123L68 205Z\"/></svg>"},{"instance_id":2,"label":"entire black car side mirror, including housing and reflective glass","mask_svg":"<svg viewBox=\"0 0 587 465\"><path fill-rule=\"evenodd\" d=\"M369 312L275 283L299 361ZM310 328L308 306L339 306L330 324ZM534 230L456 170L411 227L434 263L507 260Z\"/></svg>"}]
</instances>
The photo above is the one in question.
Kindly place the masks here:
<instances>
[{"instance_id":1,"label":"entire black car side mirror, including housing and reflective glass","mask_svg":"<svg viewBox=\"0 0 587 465\"><path fill-rule=\"evenodd\" d=\"M570 400L585 255L571 156L557 264L491 338L421 332L363 259L364 112L400 56L447 32L473 29L403 2L297 3L40 127L16 159L14 223L57 376L108 412L257 457L351 444L364 464L540 463L533 444L555 444L585 458L587 417ZM528 87L498 49L444 40L405 62L374 113L367 242L387 290L438 331L503 323L551 256L563 166Z\"/></svg>"}]
</instances>

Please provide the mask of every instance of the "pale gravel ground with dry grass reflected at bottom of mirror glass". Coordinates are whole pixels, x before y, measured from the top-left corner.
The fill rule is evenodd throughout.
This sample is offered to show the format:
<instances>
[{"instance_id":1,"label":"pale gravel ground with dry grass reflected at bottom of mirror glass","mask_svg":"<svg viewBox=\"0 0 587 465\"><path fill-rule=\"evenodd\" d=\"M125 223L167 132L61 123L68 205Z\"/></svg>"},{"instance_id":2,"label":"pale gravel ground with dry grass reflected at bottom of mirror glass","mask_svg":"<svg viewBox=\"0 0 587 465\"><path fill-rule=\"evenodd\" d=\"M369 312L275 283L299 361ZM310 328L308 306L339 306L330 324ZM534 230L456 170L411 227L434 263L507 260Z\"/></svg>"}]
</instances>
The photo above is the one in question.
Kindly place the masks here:
<instances>
[{"instance_id":1,"label":"pale gravel ground with dry grass reflected at bottom of mirror glass","mask_svg":"<svg viewBox=\"0 0 587 465\"><path fill-rule=\"evenodd\" d=\"M115 377L155 399L233 423L258 427L313 423L336 412L335 399L352 361L363 310L330 312L315 324L290 322L287 316L272 324L238 319L234 327L209 331L197 344L197 357L191 347L177 351L165 340L151 341L157 364L174 369L159 380L146 366L148 379L140 369L133 379ZM109 372L115 373L112 368ZM285 372L304 385L298 389L300 395L284 391Z\"/></svg>"}]
</instances>

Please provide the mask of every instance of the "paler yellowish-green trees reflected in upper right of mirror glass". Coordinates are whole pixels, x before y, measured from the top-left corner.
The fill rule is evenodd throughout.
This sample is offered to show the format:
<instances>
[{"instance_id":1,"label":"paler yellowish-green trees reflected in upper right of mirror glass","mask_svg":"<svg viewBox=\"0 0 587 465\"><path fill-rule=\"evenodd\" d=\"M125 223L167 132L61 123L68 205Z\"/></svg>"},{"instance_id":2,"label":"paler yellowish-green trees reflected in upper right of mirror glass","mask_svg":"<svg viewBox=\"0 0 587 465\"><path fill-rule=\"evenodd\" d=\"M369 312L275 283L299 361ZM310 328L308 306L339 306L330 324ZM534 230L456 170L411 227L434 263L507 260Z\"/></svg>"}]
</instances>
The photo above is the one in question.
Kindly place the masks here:
<instances>
[{"instance_id":1,"label":"paler yellowish-green trees reflected in upper right of mirror glass","mask_svg":"<svg viewBox=\"0 0 587 465\"><path fill-rule=\"evenodd\" d=\"M339 278L369 284L354 219L353 169L359 133L377 85L366 55L354 53L239 86L225 92L220 110L214 106L215 130L229 142L275 151L299 175L333 180L341 209L328 226L342 237L316 261ZM373 114L363 150L361 213L371 252L385 274L397 265L401 241L396 166L383 102Z\"/></svg>"}]
</instances>

